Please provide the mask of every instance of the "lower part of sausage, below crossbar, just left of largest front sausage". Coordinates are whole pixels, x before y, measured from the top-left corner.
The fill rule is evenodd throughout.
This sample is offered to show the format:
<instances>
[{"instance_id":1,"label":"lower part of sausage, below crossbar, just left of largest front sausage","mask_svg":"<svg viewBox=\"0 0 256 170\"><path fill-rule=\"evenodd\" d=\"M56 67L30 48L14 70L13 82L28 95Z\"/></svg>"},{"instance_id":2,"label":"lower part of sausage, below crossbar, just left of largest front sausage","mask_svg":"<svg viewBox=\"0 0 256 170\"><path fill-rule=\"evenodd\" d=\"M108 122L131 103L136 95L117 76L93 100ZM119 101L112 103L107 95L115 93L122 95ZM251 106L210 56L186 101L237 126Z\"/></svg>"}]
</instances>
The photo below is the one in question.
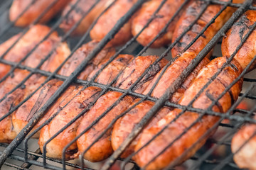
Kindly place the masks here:
<instances>
[{"instance_id":1,"label":"lower part of sausage, below crossbar, just left of largest front sausage","mask_svg":"<svg viewBox=\"0 0 256 170\"><path fill-rule=\"evenodd\" d=\"M134 103L132 103L132 105L137 103L139 100L139 98L135 100ZM133 128L140 122L140 120L142 120L143 116L146 115L146 113L153 106L154 102L151 101L144 101L142 103L139 103L138 106L133 108L131 111L126 113L122 118L119 118L119 120L117 120L116 123L114 123L111 135L111 144L114 150L116 150L122 144L122 142L124 142L124 140L132 132ZM149 125L146 125L144 129L148 129L152 125L156 124L158 120L164 118L164 115L166 115L170 111L170 108L161 108L161 110L154 116L154 118L152 118ZM129 147L127 147L127 149L125 149L125 151L121 155L122 158L126 158L134 152L134 148L137 145L138 140L139 136L132 142L131 145L129 145Z\"/></svg>"}]
</instances>

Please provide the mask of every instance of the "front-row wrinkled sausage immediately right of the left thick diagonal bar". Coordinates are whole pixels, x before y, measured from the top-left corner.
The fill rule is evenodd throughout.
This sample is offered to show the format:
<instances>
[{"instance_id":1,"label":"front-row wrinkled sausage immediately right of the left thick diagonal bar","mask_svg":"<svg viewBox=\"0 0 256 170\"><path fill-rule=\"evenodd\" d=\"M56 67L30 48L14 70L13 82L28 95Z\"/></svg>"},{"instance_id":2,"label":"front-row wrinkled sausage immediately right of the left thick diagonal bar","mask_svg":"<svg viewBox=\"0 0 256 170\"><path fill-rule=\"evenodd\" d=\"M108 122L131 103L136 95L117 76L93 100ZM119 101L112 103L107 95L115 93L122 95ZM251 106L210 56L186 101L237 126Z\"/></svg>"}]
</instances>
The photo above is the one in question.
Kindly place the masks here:
<instances>
[{"instance_id":1,"label":"front-row wrinkled sausage immediately right of the left thick diagonal bar","mask_svg":"<svg viewBox=\"0 0 256 170\"><path fill-rule=\"evenodd\" d=\"M132 56L131 55L119 55L119 57L117 57L115 60L113 60L112 62L110 62L110 64L108 65L108 67L106 67L105 69L103 69L102 71L102 74L100 73L100 75L97 77L96 81L99 82L99 83L102 83L102 84L108 84L109 81L112 81L112 79L114 79L113 75L114 74L118 74L119 72L119 69L122 69L123 67L126 66L127 62L129 60L131 60ZM100 66L98 66L100 67ZM106 74L107 72L110 72L110 70L115 70L116 72L113 72L111 74ZM94 74L96 72L92 72L90 74L90 77L93 77ZM92 91L93 88L96 88L96 87L90 87L88 89L88 91ZM87 91L87 93L89 93ZM100 93L100 89L97 90L99 93ZM90 92L91 93L91 92ZM90 94L89 93L89 94ZM96 95L96 94L95 94ZM97 94L98 95L98 94ZM89 96L88 96L89 97ZM96 98L97 96L95 96ZM84 98L82 96L82 94L78 94L78 96L76 96L75 98L78 98L78 100L82 100L82 98ZM91 99L90 99L91 100ZM85 100L86 101L86 100ZM70 120L72 120L73 118L75 118L76 115L78 115L80 113L80 111L82 111L85 107L82 107L82 108L74 108L75 105L75 99L73 99L73 101L71 101L68 106L66 106L65 108L63 108L62 111L60 111L60 113L58 114L58 117L54 118L51 123L57 123L58 120L65 120L66 118L66 115L64 113L62 113L63 111L65 111L65 113L67 114L70 114L70 117L68 118L68 120L65 120L65 123L68 123ZM108 101L109 102L109 101ZM67 110L67 109L71 109L70 107L73 107L73 109L75 111L73 112L70 112L70 110ZM120 108L118 106L118 108ZM82 109L82 110L81 110ZM92 109L91 109L92 110ZM102 109L102 111L105 111L104 109ZM86 113L87 114L87 113ZM96 116L95 116L96 118ZM48 157L53 157L53 158L57 158L57 159L61 159L61 156L62 156L62 149L65 147L65 145L68 144L68 142L70 142L71 140L73 140L75 138L75 133L76 133L76 130L78 128L78 125L80 124L80 120L77 120L75 121L75 123L73 123L73 125L71 125L70 127L73 128L73 130L71 130L72 128L67 128L65 129L63 132L60 133L60 135L58 135L57 137L55 137L53 139L52 142L50 142L48 145L47 145L47 156ZM50 125L50 124L49 124ZM48 128L43 128L41 130L41 134L40 134L40 137L39 137L39 140L41 142L39 142L39 145L41 145L41 149L44 145L44 143L50 138L52 137L55 132L57 132L56 130L52 130L52 128L54 128L54 126L49 126L49 125L46 125ZM64 125L64 123L63 123ZM47 129L47 130L46 130ZM59 128L60 130L60 128ZM53 131L53 132L52 132ZM71 132L70 132L71 131ZM63 138L61 137L66 137L66 141L63 143L63 145L58 145L58 142L60 142L60 140L63 140ZM42 138L42 139L41 139ZM53 148L56 148L56 149L53 149ZM66 159L73 159L74 157L76 157L76 155L78 154L75 154L75 149L77 149L77 145L76 144L73 144L69 150L70 152L67 152L66 153ZM75 154L75 155L73 155Z\"/></svg>"}]
</instances>

